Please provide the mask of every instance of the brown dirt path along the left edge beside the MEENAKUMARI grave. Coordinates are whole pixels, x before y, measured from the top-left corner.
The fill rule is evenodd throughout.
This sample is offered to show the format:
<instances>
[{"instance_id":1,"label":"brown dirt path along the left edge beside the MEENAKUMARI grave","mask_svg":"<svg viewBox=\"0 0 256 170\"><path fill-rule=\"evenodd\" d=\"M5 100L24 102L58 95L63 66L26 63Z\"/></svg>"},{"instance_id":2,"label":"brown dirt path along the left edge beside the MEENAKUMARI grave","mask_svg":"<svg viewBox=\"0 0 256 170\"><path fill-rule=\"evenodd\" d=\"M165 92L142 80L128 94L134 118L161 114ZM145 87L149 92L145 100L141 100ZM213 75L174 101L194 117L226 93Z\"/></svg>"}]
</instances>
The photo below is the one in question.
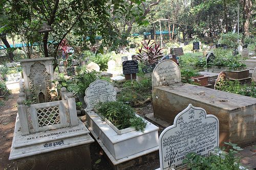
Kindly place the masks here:
<instances>
[{"instance_id":1,"label":"brown dirt path along the left edge beside the MEENAKUMARI grave","mask_svg":"<svg viewBox=\"0 0 256 170\"><path fill-rule=\"evenodd\" d=\"M14 161L9 161L11 151L15 119L17 115L16 101L18 90L13 90L4 101L5 105L0 107L0 169L16 169Z\"/></svg>"}]
</instances>

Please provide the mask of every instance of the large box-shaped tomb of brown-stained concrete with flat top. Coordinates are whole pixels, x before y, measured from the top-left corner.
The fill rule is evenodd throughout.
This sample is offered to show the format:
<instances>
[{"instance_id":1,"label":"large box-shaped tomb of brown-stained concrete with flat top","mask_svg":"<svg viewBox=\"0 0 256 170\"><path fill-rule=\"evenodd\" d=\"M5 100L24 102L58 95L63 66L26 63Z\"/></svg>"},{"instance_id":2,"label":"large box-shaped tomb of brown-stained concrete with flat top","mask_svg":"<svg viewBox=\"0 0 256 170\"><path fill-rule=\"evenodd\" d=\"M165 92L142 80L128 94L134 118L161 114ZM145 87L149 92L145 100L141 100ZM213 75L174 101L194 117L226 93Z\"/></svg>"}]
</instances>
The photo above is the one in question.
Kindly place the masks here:
<instances>
[{"instance_id":1,"label":"large box-shaped tomb of brown-stained concrete with flat top","mask_svg":"<svg viewBox=\"0 0 256 170\"><path fill-rule=\"evenodd\" d=\"M256 99L190 84L153 87L154 115L173 124L188 104L219 118L220 145L244 146L256 141Z\"/></svg>"}]
</instances>

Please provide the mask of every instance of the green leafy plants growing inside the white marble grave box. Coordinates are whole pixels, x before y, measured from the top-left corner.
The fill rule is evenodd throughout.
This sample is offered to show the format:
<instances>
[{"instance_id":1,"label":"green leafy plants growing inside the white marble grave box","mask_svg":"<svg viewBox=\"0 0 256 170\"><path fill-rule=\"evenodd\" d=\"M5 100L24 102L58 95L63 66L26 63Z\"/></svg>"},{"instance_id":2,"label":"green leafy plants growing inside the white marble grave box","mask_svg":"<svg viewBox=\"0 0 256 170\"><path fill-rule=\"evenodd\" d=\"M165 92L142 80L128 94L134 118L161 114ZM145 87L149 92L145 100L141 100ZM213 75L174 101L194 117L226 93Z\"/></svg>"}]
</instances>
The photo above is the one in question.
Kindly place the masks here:
<instances>
[{"instance_id":1,"label":"green leafy plants growing inside the white marble grave box","mask_svg":"<svg viewBox=\"0 0 256 170\"><path fill-rule=\"evenodd\" d=\"M146 127L144 120L135 115L135 110L122 102L99 103L95 108L118 129L134 127L143 132Z\"/></svg>"}]
</instances>

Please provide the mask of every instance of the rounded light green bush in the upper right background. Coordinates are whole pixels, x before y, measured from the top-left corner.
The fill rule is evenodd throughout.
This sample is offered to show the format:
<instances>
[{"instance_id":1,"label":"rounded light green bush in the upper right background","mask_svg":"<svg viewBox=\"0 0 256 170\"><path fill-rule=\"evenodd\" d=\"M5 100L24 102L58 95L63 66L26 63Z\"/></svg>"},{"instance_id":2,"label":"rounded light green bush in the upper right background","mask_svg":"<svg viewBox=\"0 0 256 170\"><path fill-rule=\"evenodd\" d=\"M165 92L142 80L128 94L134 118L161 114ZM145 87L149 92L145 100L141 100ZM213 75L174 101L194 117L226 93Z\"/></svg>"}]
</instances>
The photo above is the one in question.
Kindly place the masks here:
<instances>
[{"instance_id":1,"label":"rounded light green bush in the upper right background","mask_svg":"<svg viewBox=\"0 0 256 170\"><path fill-rule=\"evenodd\" d=\"M239 39L242 39L242 34L239 35ZM221 42L222 44L226 44L229 48L237 48L238 47L238 34L229 32L225 34L221 34Z\"/></svg>"}]
</instances>

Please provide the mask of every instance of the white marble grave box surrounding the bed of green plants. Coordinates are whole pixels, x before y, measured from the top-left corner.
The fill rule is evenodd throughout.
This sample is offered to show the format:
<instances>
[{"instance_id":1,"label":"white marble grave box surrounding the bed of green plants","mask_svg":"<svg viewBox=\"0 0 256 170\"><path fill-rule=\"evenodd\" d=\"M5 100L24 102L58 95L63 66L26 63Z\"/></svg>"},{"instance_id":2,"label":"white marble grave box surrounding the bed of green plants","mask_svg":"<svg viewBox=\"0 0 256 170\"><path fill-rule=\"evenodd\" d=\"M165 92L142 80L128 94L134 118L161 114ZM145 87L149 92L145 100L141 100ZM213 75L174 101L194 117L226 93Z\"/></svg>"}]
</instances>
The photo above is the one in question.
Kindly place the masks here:
<instances>
[{"instance_id":1,"label":"white marble grave box surrounding the bed of green plants","mask_svg":"<svg viewBox=\"0 0 256 170\"><path fill-rule=\"evenodd\" d=\"M130 160L158 150L158 127L147 120L144 132L131 131L119 135L94 111L87 111L86 116L91 133L108 149L114 164L124 162L126 157Z\"/></svg>"}]
</instances>

